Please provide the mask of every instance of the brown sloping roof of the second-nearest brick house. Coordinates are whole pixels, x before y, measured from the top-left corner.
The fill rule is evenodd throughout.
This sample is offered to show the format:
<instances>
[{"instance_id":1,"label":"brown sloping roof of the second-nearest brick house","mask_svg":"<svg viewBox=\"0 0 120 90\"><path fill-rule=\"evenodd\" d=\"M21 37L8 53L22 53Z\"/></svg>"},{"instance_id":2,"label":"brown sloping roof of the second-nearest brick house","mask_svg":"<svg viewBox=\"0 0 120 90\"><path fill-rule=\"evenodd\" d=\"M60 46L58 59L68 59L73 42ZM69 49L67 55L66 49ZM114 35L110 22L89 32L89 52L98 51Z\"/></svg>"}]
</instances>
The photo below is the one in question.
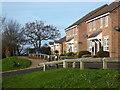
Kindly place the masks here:
<instances>
[{"instance_id":1,"label":"brown sloping roof of the second-nearest brick house","mask_svg":"<svg viewBox=\"0 0 120 90\"><path fill-rule=\"evenodd\" d=\"M85 15L84 17L82 17L81 19L79 19L78 21L76 21L75 23L73 23L72 25L70 25L69 27L67 27L66 29L75 26L75 25L79 25L81 22L85 21L86 19L88 19L91 15L95 14L97 11L101 10L102 8L106 7L107 4L95 9L94 11L91 11L90 13L88 13L87 15ZM65 29L65 30L66 30Z\"/></svg>"}]
</instances>

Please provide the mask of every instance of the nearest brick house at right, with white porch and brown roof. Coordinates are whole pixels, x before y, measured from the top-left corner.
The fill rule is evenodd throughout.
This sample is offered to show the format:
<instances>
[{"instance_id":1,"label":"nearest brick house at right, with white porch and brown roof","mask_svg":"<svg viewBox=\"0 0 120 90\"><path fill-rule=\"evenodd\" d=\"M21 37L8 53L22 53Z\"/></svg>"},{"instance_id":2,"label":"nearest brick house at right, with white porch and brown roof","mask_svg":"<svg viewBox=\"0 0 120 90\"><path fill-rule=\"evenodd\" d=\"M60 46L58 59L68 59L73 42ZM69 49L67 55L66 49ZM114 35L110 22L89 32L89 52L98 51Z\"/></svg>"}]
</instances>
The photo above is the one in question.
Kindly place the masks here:
<instances>
[{"instance_id":1,"label":"nearest brick house at right, with white porch and brown roof","mask_svg":"<svg viewBox=\"0 0 120 90\"><path fill-rule=\"evenodd\" d=\"M99 50L110 52L110 57L120 57L120 2L113 2L86 21L88 48L93 55Z\"/></svg>"}]
</instances>

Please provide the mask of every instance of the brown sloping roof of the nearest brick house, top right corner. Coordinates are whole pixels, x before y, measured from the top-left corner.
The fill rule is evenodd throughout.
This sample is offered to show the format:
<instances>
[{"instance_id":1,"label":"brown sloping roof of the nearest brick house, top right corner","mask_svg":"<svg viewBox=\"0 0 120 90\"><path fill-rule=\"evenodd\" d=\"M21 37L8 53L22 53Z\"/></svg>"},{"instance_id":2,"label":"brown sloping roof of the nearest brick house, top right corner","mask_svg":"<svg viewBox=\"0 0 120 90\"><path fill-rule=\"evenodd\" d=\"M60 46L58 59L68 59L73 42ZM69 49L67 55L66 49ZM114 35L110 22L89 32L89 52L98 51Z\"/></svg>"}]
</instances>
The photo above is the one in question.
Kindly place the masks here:
<instances>
[{"instance_id":1,"label":"brown sloping roof of the nearest brick house, top right corner","mask_svg":"<svg viewBox=\"0 0 120 90\"><path fill-rule=\"evenodd\" d=\"M89 19L93 19L93 18L95 18L95 17L97 17L97 16L100 16L100 15L102 15L102 14L105 14L105 13L107 13L107 12L111 12L111 11L113 11L114 9L116 9L118 6L120 6L120 0L118 0L118 2L113 2L113 3L111 3L110 5L108 5L107 7L105 7L105 8L103 8L103 9L101 9L100 11L98 11L98 12L96 12L91 18L89 18ZM89 20L88 19L88 20Z\"/></svg>"}]
</instances>

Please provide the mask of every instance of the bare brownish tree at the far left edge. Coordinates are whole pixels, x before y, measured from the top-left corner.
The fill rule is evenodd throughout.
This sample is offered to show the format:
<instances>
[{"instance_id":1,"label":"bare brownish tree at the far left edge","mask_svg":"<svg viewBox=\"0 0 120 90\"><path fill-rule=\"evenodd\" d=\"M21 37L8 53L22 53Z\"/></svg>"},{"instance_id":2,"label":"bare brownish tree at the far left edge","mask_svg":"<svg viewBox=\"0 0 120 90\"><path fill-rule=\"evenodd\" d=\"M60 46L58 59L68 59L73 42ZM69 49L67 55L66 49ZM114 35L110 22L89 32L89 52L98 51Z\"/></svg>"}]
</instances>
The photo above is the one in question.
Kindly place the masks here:
<instances>
[{"instance_id":1,"label":"bare brownish tree at the far left edge","mask_svg":"<svg viewBox=\"0 0 120 90\"><path fill-rule=\"evenodd\" d=\"M5 20L2 30L2 49L5 56L20 55L22 46L25 45L24 31L20 24L14 20Z\"/></svg>"}]
</instances>

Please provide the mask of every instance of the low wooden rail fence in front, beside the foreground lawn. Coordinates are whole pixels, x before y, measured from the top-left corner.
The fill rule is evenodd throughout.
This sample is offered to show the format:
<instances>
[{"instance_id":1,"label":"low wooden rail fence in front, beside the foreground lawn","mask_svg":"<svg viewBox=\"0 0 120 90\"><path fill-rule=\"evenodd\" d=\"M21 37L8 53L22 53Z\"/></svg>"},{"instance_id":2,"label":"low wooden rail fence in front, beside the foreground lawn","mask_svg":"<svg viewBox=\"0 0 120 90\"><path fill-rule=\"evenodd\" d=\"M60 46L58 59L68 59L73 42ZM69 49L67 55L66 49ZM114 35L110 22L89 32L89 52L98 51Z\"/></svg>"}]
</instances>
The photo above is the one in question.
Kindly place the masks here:
<instances>
[{"instance_id":1,"label":"low wooden rail fence in front, beside the foreground lawn","mask_svg":"<svg viewBox=\"0 0 120 90\"><path fill-rule=\"evenodd\" d=\"M63 64L63 68L68 68L68 63L72 63L72 67L75 68L76 62L80 62L80 69L84 69L84 63L85 62L102 62L103 63L103 69L107 69L107 62L119 62L119 60L114 60L110 58L81 58L81 59L65 59L60 61L52 61L52 62L45 62L40 63L39 66L43 66L43 71L46 70L47 65L56 65L56 64Z\"/></svg>"}]
</instances>

